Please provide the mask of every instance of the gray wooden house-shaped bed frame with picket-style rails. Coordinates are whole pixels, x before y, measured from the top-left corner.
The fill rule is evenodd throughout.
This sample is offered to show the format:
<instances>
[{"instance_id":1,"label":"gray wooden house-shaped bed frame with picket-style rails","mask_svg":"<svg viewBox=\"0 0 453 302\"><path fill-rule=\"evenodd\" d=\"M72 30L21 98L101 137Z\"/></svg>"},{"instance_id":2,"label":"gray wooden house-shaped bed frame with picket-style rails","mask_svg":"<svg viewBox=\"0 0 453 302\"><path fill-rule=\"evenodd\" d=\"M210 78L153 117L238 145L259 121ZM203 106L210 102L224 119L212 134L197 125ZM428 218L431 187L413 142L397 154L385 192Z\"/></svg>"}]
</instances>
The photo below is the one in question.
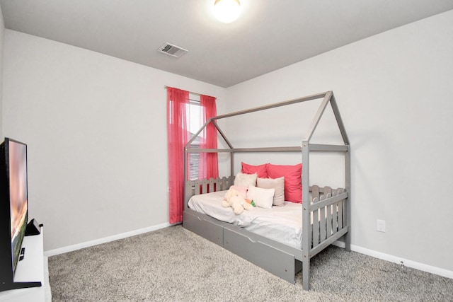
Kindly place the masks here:
<instances>
[{"instance_id":1,"label":"gray wooden house-shaped bed frame with picket-style rails","mask_svg":"<svg viewBox=\"0 0 453 302\"><path fill-rule=\"evenodd\" d=\"M282 146L265 148L235 149L226 138L217 120L244 115L260 110L268 110L294 103L323 98L312 120L309 131L302 141L302 146ZM344 144L311 144L310 140L327 105L330 104L340 130ZM191 148L190 144L207 127L214 124L229 149ZM350 145L343 121L332 91L305 96L294 100L242 110L226 115L218 115L208 120L185 146L184 175L188 175L187 162L189 153L227 152L230 153L230 175L210 180L188 180L185 182L185 202L183 227L207 238L213 243L234 252L236 255L268 270L278 277L295 283L295 275L302 269L302 285L305 290L310 286L310 260L324 248L339 238L345 238L345 249L350 251ZM234 183L234 154L242 152L301 152L302 153L302 250L278 243L259 236L231 223L219 221L200 214L188 207L188 200L194 194L228 190ZM330 187L309 185L309 160L312 152L343 153L345 158L345 187L332 190ZM310 200L310 202L306 202ZM259 252L256 252L258 251Z\"/></svg>"}]
</instances>

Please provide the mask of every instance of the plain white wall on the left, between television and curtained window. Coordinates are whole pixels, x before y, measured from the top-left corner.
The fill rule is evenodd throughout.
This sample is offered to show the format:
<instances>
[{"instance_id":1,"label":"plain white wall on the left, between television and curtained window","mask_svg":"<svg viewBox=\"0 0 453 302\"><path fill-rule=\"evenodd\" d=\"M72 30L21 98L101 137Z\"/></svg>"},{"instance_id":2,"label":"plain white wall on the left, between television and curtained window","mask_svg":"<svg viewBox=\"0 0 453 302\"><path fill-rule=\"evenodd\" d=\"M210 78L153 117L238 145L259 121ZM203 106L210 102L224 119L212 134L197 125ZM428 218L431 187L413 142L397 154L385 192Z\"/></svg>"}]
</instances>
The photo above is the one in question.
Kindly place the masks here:
<instances>
[{"instance_id":1,"label":"plain white wall on the left, between television and curtained window","mask_svg":"<svg viewBox=\"0 0 453 302\"><path fill-rule=\"evenodd\" d=\"M224 88L12 30L4 135L28 144L45 250L168 223L166 90Z\"/></svg>"}]
</instances>

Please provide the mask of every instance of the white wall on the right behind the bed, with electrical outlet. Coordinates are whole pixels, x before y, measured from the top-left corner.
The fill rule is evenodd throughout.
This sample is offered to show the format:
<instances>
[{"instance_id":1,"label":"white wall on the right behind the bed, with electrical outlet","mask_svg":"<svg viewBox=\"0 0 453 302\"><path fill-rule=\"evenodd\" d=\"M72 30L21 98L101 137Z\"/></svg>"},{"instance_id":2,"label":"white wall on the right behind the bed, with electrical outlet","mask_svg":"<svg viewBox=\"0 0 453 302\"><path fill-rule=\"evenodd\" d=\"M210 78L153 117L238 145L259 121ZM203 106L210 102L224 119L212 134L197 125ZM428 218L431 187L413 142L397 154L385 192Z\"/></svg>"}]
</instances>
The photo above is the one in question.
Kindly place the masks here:
<instances>
[{"instance_id":1,"label":"white wall on the right behind the bed, with electrical outlet","mask_svg":"<svg viewBox=\"0 0 453 302\"><path fill-rule=\"evenodd\" d=\"M227 111L332 90L352 148L352 245L453 271L452 37L448 11L231 87ZM244 133L241 144L256 136L273 144L277 133L291 141L294 125L312 117L289 122L297 114L260 115L271 119L265 134L227 127ZM314 141L329 139L328 126ZM376 231L377 219L386 233Z\"/></svg>"}]
</instances>

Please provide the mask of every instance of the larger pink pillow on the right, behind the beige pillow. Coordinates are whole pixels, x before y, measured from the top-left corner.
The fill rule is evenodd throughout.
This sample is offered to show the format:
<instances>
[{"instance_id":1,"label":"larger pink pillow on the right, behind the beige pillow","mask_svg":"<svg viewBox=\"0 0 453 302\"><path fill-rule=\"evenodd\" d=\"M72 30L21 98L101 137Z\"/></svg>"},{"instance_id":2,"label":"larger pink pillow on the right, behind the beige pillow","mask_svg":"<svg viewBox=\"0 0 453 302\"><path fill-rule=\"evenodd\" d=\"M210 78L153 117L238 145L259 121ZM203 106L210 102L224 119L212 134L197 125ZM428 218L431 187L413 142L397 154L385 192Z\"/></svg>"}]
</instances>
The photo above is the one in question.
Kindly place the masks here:
<instances>
[{"instance_id":1,"label":"larger pink pillow on the right, behind the beige pillow","mask_svg":"<svg viewBox=\"0 0 453 302\"><path fill-rule=\"evenodd\" d=\"M302 203L302 163L297 165L273 165L268 163L268 177L285 176L285 200Z\"/></svg>"}]
</instances>

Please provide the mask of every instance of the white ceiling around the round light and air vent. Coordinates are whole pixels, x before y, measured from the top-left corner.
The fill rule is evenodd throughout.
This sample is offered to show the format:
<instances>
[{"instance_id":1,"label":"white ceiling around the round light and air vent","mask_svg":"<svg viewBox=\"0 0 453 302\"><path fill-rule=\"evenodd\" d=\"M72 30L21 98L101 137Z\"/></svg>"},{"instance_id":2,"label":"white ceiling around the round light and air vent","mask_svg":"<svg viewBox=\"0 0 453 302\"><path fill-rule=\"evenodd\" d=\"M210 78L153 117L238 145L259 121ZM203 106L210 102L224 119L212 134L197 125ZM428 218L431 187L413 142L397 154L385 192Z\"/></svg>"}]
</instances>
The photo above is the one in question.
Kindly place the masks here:
<instances>
[{"instance_id":1,"label":"white ceiling around the round light and air vent","mask_svg":"<svg viewBox=\"0 0 453 302\"><path fill-rule=\"evenodd\" d=\"M214 0L0 0L5 27L229 87L453 9L452 0L241 0L234 23ZM189 52L157 52L165 42Z\"/></svg>"}]
</instances>

